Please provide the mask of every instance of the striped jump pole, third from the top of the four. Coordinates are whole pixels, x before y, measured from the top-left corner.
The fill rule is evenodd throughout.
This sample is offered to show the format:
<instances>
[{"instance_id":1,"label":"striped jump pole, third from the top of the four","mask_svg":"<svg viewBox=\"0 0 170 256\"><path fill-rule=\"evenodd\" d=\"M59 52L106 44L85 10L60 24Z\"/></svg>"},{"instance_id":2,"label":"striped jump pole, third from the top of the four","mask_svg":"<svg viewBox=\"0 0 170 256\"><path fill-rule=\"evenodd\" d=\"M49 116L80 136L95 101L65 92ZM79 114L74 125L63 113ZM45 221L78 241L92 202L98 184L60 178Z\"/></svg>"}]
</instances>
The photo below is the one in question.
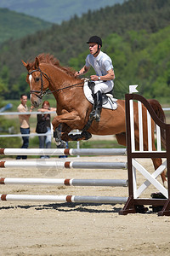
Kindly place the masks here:
<instances>
[{"instance_id":1,"label":"striped jump pole, third from the top of the four","mask_svg":"<svg viewBox=\"0 0 170 256\"><path fill-rule=\"evenodd\" d=\"M125 179L0 177L0 184L127 187Z\"/></svg>"}]
</instances>

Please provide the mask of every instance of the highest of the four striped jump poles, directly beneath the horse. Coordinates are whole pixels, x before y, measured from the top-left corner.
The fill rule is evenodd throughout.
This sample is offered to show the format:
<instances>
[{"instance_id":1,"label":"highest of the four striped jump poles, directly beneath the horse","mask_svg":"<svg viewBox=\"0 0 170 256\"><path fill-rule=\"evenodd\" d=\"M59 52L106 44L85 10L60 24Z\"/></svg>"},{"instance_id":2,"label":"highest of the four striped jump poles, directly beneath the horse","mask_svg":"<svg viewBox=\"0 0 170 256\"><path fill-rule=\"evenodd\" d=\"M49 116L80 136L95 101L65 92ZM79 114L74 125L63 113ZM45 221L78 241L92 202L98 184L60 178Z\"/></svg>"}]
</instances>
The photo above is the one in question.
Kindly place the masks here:
<instances>
[{"instance_id":1,"label":"highest of the four striped jump poles, directly beneath the horse","mask_svg":"<svg viewBox=\"0 0 170 256\"><path fill-rule=\"evenodd\" d=\"M4 155L126 155L126 148L0 148Z\"/></svg>"}]
</instances>

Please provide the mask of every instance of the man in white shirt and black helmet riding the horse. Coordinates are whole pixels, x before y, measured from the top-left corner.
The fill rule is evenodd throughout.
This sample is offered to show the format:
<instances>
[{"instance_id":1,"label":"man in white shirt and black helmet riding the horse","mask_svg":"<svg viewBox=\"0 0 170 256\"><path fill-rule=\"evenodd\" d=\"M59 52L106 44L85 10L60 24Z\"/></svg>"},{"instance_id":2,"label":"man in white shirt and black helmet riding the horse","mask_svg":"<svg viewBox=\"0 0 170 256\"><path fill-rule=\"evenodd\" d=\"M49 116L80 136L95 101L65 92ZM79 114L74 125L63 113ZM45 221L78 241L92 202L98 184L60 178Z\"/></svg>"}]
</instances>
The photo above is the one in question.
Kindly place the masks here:
<instances>
[{"instance_id":1,"label":"man in white shirt and black helmet riding the horse","mask_svg":"<svg viewBox=\"0 0 170 256\"><path fill-rule=\"evenodd\" d=\"M94 112L90 116L94 117L99 122L100 113L102 108L102 93L107 93L113 89L115 79L115 73L111 58L101 51L102 40L97 36L89 38L87 44L89 44L90 54L86 58L86 64L76 72L75 75L79 76L84 73L88 73L90 67L94 67L95 75L90 76L90 79L94 81Z\"/></svg>"}]
</instances>

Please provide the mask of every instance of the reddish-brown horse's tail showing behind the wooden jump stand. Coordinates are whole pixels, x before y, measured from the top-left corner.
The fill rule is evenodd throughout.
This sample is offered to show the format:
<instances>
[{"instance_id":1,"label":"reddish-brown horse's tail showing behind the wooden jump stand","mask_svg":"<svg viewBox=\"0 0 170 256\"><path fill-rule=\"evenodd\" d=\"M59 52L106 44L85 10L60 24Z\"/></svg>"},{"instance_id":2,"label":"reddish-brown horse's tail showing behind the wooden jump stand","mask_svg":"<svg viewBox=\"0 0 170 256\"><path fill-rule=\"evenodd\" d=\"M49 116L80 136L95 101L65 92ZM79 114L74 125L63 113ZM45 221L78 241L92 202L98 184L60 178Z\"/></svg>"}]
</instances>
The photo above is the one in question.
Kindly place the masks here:
<instances>
[{"instance_id":1,"label":"reddish-brown horse's tail showing behind the wooden jump stand","mask_svg":"<svg viewBox=\"0 0 170 256\"><path fill-rule=\"evenodd\" d=\"M163 123L166 123L166 117L163 109L161 108L161 104L153 99L149 100L151 107L154 109L156 115ZM164 148L166 148L166 133L164 129L161 129L161 143Z\"/></svg>"}]
</instances>

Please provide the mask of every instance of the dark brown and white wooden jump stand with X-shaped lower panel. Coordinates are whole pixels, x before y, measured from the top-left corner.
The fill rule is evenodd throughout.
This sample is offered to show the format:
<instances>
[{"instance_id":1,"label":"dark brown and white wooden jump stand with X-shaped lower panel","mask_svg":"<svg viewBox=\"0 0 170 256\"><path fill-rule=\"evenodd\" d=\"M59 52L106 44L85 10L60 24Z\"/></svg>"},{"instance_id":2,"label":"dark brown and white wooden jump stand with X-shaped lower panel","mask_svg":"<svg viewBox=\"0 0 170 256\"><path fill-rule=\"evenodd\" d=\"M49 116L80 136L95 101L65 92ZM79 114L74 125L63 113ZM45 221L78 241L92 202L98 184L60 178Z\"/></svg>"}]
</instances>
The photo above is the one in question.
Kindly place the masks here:
<instances>
[{"instance_id":1,"label":"dark brown and white wooden jump stand with X-shaped lower panel","mask_svg":"<svg viewBox=\"0 0 170 256\"><path fill-rule=\"evenodd\" d=\"M133 102L138 102L139 115L139 150L135 148L134 140L134 116ZM170 215L170 125L165 124L159 119L154 112L150 103L143 97L137 94L127 94L126 102L126 131L127 131L127 172L128 172L128 200L119 214L126 215L127 213L135 213L136 207L150 205L152 207L161 206L162 209L158 212L158 216ZM142 120L142 105L147 109L147 133L148 133L148 151L144 151L143 147L143 120ZM152 140L155 137L151 136L151 119L156 127L156 150L152 148ZM166 149L161 148L161 132L166 135ZM138 159L156 159L165 158L166 160L159 166L155 172L150 174L144 166L140 165ZM167 168L167 189L159 183L156 178ZM137 171L145 178L144 183L137 186ZM145 189L152 184L159 192L161 198L140 198Z\"/></svg>"}]
</instances>

